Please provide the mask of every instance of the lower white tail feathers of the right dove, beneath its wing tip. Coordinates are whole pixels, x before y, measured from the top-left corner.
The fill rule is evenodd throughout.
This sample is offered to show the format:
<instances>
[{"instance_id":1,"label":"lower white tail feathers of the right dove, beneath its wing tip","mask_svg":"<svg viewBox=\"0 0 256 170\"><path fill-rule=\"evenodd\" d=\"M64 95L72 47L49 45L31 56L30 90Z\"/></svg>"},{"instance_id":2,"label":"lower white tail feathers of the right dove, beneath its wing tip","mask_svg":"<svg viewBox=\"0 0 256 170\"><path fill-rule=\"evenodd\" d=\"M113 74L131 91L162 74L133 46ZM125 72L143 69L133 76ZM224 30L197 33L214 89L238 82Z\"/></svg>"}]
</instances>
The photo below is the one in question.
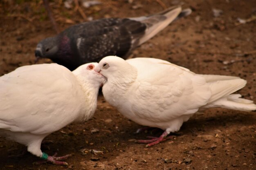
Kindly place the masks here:
<instances>
[{"instance_id":1,"label":"lower white tail feathers of the right dove, beneath its wing tip","mask_svg":"<svg viewBox=\"0 0 256 170\"><path fill-rule=\"evenodd\" d=\"M252 100L242 99L240 97L240 94L228 95L226 97L218 99L216 102L213 102L208 107L206 106L206 108L221 107L241 111L256 110L256 104L254 104Z\"/></svg>"}]
</instances>

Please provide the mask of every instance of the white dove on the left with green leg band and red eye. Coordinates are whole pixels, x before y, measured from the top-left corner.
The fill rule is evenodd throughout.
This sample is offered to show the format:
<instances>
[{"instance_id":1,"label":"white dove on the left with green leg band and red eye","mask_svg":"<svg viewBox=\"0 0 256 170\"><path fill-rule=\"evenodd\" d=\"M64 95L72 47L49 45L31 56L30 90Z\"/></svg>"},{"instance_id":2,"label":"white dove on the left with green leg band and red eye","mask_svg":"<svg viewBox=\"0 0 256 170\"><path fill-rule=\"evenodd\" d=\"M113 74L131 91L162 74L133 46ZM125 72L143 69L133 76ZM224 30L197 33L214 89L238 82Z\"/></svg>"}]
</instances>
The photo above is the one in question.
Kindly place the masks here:
<instances>
[{"instance_id":1,"label":"white dove on the left with green leg band and red eye","mask_svg":"<svg viewBox=\"0 0 256 170\"><path fill-rule=\"evenodd\" d=\"M58 64L22 66L0 77L0 135L27 146L32 154L58 165L64 157L40 150L42 140L72 122L94 115L104 77L93 71L98 63L71 72Z\"/></svg>"}]
</instances>

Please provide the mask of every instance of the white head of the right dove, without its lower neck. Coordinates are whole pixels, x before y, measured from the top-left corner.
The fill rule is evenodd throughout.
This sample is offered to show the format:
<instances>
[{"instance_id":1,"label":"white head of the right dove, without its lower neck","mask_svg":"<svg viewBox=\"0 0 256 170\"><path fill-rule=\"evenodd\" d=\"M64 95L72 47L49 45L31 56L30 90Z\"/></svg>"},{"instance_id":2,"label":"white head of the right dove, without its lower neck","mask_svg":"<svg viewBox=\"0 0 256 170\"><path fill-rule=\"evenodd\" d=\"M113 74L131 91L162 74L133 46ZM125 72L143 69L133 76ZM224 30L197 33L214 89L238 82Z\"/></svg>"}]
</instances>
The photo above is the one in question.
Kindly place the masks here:
<instances>
[{"instance_id":1,"label":"white head of the right dove, without its lower neck","mask_svg":"<svg viewBox=\"0 0 256 170\"><path fill-rule=\"evenodd\" d=\"M137 78L137 69L117 56L104 57L94 69L106 82L128 84Z\"/></svg>"}]
</instances>

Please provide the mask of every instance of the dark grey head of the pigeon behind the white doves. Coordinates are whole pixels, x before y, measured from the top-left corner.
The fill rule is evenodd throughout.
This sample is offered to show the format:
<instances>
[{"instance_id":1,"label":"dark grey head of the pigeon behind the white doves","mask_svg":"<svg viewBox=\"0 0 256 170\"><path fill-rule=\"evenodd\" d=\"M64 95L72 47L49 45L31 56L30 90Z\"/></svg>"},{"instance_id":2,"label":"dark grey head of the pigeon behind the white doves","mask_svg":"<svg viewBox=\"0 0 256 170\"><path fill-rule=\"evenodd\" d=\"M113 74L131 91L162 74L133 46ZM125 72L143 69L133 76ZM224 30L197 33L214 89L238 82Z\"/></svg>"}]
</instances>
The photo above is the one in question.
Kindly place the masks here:
<instances>
[{"instance_id":1,"label":"dark grey head of the pigeon behind the white doves","mask_svg":"<svg viewBox=\"0 0 256 170\"><path fill-rule=\"evenodd\" d=\"M40 41L35 50L36 58L52 58L58 52L58 42L56 37L49 37Z\"/></svg>"}]
</instances>

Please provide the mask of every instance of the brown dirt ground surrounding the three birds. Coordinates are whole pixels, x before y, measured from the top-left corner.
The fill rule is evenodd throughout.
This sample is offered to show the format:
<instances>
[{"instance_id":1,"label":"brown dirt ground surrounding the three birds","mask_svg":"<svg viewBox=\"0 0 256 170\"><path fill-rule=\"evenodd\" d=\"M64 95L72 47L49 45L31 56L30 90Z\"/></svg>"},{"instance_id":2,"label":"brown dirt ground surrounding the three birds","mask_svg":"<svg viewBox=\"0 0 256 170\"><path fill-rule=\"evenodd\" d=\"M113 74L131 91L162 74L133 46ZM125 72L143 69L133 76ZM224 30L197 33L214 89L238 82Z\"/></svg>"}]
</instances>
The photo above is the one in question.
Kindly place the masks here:
<instances>
[{"instance_id":1,"label":"brown dirt ground surrounding the three birds","mask_svg":"<svg viewBox=\"0 0 256 170\"><path fill-rule=\"evenodd\" d=\"M63 0L64 1L64 0ZM51 1L60 30L85 21L79 11ZM101 0L81 6L87 18L135 17L183 3L193 13L173 22L137 48L133 57L155 57L200 74L239 76L247 86L239 91L256 103L256 0ZM162 3L161 3L162 2ZM162 4L162 5L161 5ZM214 16L213 9L220 9ZM215 13L216 15L218 14ZM244 19L240 24L238 18ZM55 35L42 0L0 2L0 75L34 64L39 40ZM39 63L49 63L41 60ZM126 119L99 96L93 119L72 124L45 138L49 155L74 153L68 167L34 165L39 159L25 146L0 137L1 170L255 170L256 113L227 109L206 110L185 122L173 140L146 148L135 139L161 135L161 131L134 132L142 126ZM91 150L102 151L93 153Z\"/></svg>"}]
</instances>

